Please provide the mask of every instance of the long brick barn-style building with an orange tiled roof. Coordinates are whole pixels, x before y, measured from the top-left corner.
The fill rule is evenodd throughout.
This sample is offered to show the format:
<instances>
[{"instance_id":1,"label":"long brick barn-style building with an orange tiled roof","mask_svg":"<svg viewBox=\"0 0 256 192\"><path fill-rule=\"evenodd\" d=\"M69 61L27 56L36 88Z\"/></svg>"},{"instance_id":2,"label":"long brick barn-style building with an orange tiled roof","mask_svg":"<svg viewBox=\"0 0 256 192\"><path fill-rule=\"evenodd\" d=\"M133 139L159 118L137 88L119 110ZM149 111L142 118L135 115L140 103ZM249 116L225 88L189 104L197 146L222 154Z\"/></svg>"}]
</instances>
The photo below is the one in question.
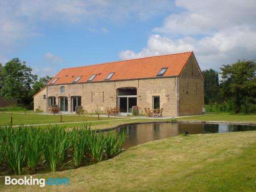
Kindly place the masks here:
<instances>
[{"instance_id":1,"label":"long brick barn-style building with an orange tiled roof","mask_svg":"<svg viewBox=\"0 0 256 192\"><path fill-rule=\"evenodd\" d=\"M47 112L58 104L61 112L81 105L89 113L132 106L164 108L163 115L202 114L204 78L193 52L153 56L62 69L34 95L34 110Z\"/></svg>"}]
</instances>

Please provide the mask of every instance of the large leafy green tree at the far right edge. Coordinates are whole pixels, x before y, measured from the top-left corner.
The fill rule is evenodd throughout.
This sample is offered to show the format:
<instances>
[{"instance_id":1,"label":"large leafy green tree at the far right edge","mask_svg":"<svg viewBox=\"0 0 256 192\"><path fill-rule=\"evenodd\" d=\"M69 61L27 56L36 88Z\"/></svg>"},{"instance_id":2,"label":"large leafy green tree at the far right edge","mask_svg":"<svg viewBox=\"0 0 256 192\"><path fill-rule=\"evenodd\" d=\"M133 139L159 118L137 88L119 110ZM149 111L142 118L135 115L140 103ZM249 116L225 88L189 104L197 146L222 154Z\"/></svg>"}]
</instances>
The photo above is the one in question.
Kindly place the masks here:
<instances>
[{"instance_id":1,"label":"large leafy green tree at the far right edge","mask_svg":"<svg viewBox=\"0 0 256 192\"><path fill-rule=\"evenodd\" d=\"M256 108L256 63L252 60L239 60L221 68L221 93L225 100L234 105L236 113L255 113Z\"/></svg>"}]
</instances>

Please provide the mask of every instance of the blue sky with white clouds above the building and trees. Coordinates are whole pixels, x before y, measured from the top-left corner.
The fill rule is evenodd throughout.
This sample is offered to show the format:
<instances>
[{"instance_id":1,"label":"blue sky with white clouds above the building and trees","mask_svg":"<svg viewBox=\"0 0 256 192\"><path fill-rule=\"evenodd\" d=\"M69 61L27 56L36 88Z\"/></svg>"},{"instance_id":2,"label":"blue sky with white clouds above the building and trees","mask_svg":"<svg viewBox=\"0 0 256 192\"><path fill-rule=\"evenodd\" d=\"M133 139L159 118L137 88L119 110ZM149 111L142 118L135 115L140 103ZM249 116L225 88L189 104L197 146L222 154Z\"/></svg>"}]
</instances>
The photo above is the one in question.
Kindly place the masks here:
<instances>
[{"instance_id":1,"label":"blue sky with white clouds above the building and trees","mask_svg":"<svg viewBox=\"0 0 256 192\"><path fill-rule=\"evenodd\" d=\"M0 62L62 68L194 51L201 70L256 59L255 0L0 0Z\"/></svg>"}]
</instances>

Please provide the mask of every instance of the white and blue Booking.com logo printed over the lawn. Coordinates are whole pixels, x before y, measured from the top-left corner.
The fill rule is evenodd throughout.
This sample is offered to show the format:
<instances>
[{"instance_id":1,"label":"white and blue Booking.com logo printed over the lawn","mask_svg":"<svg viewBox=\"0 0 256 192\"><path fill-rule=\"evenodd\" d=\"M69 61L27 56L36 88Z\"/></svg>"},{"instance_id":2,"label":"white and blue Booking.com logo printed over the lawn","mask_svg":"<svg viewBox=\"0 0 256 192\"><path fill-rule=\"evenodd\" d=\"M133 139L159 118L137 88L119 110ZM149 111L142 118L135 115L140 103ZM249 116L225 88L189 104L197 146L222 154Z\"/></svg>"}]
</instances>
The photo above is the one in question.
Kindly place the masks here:
<instances>
[{"instance_id":1,"label":"white and blue Booking.com logo printed over the lawn","mask_svg":"<svg viewBox=\"0 0 256 192\"><path fill-rule=\"evenodd\" d=\"M62 178L62 179L52 179L49 178L47 181L44 178L33 178L32 176L30 177L24 177L24 178L11 178L9 176L5 177L5 184L6 185L39 185L40 187L45 187L46 185L69 185L70 180L67 178Z\"/></svg>"}]
</instances>

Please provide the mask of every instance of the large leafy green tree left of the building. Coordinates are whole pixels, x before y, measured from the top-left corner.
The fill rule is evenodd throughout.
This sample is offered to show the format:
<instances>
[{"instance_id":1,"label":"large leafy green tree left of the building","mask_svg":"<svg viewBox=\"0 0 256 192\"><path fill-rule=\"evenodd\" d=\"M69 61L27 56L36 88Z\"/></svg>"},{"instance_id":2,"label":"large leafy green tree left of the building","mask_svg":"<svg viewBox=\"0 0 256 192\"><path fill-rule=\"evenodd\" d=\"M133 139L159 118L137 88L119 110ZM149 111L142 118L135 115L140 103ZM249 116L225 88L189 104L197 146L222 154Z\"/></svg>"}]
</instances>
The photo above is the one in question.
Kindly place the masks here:
<instances>
[{"instance_id":1,"label":"large leafy green tree left of the building","mask_svg":"<svg viewBox=\"0 0 256 192\"><path fill-rule=\"evenodd\" d=\"M29 94L37 76L32 74L32 69L26 66L26 62L18 58L10 60L4 66L3 75L3 96L17 99L19 103L30 104L32 98Z\"/></svg>"}]
</instances>

